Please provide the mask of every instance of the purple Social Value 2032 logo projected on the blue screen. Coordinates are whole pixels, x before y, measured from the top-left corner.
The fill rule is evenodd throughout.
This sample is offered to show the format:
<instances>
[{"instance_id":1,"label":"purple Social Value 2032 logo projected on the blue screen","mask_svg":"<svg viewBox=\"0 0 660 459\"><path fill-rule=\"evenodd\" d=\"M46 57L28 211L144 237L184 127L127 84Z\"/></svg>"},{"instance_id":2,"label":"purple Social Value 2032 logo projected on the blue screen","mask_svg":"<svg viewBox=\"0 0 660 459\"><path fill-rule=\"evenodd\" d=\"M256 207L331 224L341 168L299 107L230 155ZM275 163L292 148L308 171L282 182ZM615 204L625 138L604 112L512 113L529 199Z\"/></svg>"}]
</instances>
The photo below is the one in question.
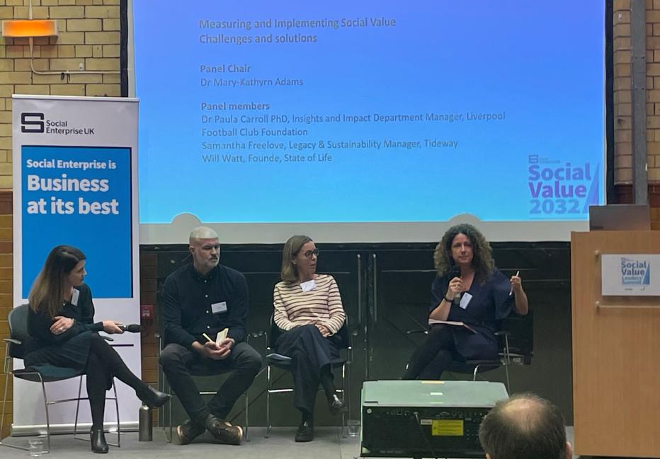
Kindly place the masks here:
<instances>
[{"instance_id":1,"label":"purple Social Value 2032 logo projected on the blue screen","mask_svg":"<svg viewBox=\"0 0 660 459\"><path fill-rule=\"evenodd\" d=\"M600 165L571 163L539 155L528 161L531 217L581 219L589 206L598 204Z\"/></svg>"}]
</instances>

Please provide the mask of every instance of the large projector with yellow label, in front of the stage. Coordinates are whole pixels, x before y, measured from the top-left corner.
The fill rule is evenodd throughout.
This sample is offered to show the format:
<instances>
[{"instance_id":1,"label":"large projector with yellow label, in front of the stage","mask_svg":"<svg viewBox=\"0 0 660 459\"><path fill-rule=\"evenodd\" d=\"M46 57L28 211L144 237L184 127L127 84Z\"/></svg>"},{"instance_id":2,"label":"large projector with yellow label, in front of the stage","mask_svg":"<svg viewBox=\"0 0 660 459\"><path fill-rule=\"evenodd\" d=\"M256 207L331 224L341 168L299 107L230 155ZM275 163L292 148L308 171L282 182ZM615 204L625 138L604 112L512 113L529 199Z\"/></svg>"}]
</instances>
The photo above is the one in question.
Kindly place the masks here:
<instances>
[{"instance_id":1,"label":"large projector with yellow label, in front of the stage","mask_svg":"<svg viewBox=\"0 0 660 459\"><path fill-rule=\"evenodd\" d=\"M362 386L360 456L484 458L479 424L502 383L380 380Z\"/></svg>"}]
</instances>

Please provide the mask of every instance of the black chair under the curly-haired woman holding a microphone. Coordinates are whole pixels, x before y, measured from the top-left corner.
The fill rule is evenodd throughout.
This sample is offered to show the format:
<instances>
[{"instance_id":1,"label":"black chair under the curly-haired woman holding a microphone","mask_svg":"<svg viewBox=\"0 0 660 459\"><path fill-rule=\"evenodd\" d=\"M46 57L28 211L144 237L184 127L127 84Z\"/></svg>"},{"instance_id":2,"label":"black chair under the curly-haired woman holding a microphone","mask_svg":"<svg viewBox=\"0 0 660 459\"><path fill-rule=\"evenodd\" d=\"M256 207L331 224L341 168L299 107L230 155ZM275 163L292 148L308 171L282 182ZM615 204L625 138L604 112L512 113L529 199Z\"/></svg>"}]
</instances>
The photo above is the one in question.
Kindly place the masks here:
<instances>
[{"instance_id":1,"label":"black chair under the curly-haired woman holding a microphone","mask_svg":"<svg viewBox=\"0 0 660 459\"><path fill-rule=\"evenodd\" d=\"M407 334L424 333L428 330L408 330ZM481 378L481 373L496 370L503 366L506 375L506 390L511 393L511 383L508 367L511 364L529 365L533 355L533 313L530 309L527 315L512 313L503 320L501 330L495 333L499 338L499 358L485 360L466 360L451 362L448 373L466 373L472 375L472 380ZM513 345L512 345L513 344ZM483 378L482 378L483 379Z\"/></svg>"}]
</instances>

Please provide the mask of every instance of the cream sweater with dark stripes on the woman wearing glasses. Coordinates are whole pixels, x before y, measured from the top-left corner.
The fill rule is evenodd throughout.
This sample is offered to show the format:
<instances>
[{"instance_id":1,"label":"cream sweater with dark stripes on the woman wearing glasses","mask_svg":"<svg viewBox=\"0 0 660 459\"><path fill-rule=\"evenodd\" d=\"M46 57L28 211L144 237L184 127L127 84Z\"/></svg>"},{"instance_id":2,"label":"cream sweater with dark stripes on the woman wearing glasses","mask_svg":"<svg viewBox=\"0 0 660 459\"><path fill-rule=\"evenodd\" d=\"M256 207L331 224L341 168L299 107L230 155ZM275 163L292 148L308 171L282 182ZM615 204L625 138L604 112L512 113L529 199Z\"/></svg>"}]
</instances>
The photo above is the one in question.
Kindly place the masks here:
<instances>
[{"instance_id":1,"label":"cream sweater with dark stripes on the woman wearing glasses","mask_svg":"<svg viewBox=\"0 0 660 459\"><path fill-rule=\"evenodd\" d=\"M282 330L298 325L321 323L334 335L346 320L337 283L329 274L314 278L317 287L302 291L297 282L278 282L273 291L275 324Z\"/></svg>"}]
</instances>

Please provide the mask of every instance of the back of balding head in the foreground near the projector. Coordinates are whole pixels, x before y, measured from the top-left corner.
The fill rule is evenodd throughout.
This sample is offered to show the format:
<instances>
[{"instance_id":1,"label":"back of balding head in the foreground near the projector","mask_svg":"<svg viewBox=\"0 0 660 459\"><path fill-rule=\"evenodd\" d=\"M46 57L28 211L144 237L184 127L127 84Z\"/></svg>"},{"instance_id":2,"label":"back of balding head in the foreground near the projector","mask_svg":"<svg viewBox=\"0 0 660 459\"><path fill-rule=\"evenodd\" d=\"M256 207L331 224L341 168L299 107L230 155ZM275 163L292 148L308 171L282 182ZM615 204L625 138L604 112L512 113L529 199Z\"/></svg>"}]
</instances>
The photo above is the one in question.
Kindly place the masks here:
<instances>
[{"instance_id":1,"label":"back of balding head in the foreground near the projector","mask_svg":"<svg viewBox=\"0 0 660 459\"><path fill-rule=\"evenodd\" d=\"M497 402L479 426L488 459L571 459L559 408L534 394Z\"/></svg>"}]
</instances>

